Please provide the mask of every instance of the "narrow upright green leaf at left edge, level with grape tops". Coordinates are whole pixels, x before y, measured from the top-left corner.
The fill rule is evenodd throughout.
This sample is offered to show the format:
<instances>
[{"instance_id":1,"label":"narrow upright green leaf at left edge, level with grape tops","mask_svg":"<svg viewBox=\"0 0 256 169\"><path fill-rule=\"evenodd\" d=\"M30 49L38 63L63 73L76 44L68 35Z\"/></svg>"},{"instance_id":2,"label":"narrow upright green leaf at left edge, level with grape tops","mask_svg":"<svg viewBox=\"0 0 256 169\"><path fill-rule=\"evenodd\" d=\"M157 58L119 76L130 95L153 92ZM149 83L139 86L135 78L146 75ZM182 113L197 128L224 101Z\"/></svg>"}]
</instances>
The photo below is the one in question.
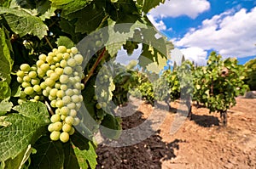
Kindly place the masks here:
<instances>
[{"instance_id":1,"label":"narrow upright green leaf at left edge, level with grape tops","mask_svg":"<svg viewBox=\"0 0 256 169\"><path fill-rule=\"evenodd\" d=\"M8 42L9 41L6 38L5 29L0 27L0 79L9 84L11 80L10 72L12 70L14 61L10 56L10 51L12 49Z\"/></svg>"}]
</instances>

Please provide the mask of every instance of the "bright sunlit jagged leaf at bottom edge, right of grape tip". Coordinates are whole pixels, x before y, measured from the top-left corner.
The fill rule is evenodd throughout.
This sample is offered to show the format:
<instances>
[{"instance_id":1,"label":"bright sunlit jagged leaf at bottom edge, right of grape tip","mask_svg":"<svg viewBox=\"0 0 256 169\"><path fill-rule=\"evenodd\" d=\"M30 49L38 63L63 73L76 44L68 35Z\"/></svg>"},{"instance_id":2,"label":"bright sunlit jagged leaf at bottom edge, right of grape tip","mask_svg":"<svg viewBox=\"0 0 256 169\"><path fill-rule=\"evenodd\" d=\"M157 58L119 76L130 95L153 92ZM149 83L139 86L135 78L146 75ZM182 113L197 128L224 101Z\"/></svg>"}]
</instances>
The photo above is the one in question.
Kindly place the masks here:
<instances>
[{"instance_id":1,"label":"bright sunlit jagged leaf at bottom edge, right of grape tip","mask_svg":"<svg viewBox=\"0 0 256 169\"><path fill-rule=\"evenodd\" d=\"M97 155L95 151L95 147L92 143L89 142L89 149L80 150L79 148L75 148L74 152L77 155L77 158L79 160L79 166L80 168L88 168L88 165L90 168L95 169L97 165Z\"/></svg>"}]
</instances>

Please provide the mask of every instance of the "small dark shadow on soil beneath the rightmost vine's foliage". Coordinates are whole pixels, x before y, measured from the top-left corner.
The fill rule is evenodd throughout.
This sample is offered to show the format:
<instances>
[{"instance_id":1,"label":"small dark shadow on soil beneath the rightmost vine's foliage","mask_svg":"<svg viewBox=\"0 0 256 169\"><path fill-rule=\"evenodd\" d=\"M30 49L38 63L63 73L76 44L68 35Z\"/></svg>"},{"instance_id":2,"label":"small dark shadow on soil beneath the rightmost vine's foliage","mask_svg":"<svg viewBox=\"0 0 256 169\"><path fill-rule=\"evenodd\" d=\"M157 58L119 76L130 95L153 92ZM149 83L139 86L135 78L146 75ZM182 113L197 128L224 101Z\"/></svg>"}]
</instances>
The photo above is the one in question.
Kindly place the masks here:
<instances>
[{"instance_id":1,"label":"small dark shadow on soil beneath the rightmost vine's foliage","mask_svg":"<svg viewBox=\"0 0 256 169\"><path fill-rule=\"evenodd\" d=\"M220 121L218 117L212 115L195 115L192 114L191 121L195 121L195 123L201 127L212 127L219 126Z\"/></svg>"}]
</instances>

